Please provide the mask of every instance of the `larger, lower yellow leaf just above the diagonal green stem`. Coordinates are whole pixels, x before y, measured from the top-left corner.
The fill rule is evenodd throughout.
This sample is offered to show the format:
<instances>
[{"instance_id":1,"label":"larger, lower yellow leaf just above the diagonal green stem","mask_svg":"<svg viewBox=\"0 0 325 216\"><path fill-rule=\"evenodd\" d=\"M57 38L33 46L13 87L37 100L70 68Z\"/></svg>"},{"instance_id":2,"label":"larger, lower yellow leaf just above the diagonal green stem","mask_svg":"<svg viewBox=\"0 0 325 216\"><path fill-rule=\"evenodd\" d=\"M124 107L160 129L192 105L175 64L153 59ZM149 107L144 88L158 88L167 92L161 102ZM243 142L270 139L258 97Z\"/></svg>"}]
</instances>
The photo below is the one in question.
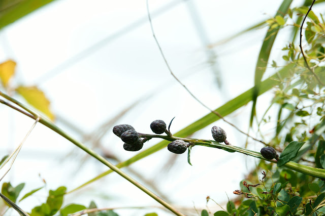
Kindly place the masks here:
<instances>
[{"instance_id":1,"label":"larger, lower yellow leaf just above the diagonal green stem","mask_svg":"<svg viewBox=\"0 0 325 216\"><path fill-rule=\"evenodd\" d=\"M51 120L54 120L54 115L50 110L50 101L45 97L44 93L36 86L24 87L20 85L16 91L20 94L31 106L43 112Z\"/></svg>"}]
</instances>

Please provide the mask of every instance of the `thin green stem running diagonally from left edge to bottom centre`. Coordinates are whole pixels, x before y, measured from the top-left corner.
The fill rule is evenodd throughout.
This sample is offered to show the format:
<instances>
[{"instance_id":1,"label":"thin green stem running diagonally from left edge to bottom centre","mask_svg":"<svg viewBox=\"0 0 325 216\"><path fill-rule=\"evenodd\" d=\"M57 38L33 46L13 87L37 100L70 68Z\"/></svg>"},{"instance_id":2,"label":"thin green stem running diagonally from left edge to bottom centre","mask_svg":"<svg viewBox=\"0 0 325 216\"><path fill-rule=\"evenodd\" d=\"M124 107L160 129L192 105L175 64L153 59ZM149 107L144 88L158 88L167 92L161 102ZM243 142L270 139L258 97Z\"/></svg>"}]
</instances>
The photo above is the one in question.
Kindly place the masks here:
<instances>
[{"instance_id":1,"label":"thin green stem running diagonally from left edge to bottom centre","mask_svg":"<svg viewBox=\"0 0 325 216\"><path fill-rule=\"evenodd\" d=\"M4 94L1 91L0 91L0 95L2 97L6 98L7 100L9 100L9 101L17 104L18 106L20 106L24 110L28 111L29 113L31 113L32 115L34 115L34 117L39 117L40 116L35 111L32 111L31 109L29 109L28 107L26 107L24 104L22 104L19 101L11 98L10 96ZM24 112L21 112L21 113L24 113ZM28 117L31 117L29 115L27 115L27 116ZM112 163L110 163L104 157L102 157L101 155L99 155L96 152L92 151L91 149L89 149L88 147L86 147L85 145L83 145L81 142L79 142L79 141L75 140L74 138L72 138L70 135L68 135L66 132L64 132L62 129L60 129L58 126L56 126L53 122L51 122L48 119L43 118L43 117L40 117L40 121L39 122L42 123L43 125L47 126L48 128L52 129L52 131L56 132L57 134L61 135L62 137L66 138L67 140L69 140L70 142L72 142L73 144L75 144L76 146L78 146L80 149L84 150L89 155L91 155L92 157L96 158L97 160L99 160L100 162L102 162L103 164L105 164L106 166L108 166L109 168L111 168L113 171L117 172L117 174L119 174L121 177L123 177L127 181L131 182L133 185L135 185L140 190L142 190L143 192L145 192L146 194L148 194L150 197L152 197L154 200L156 200L157 202L159 202L161 205L163 205L166 208L168 208L169 210L171 210L176 215L185 216L184 214L182 214L181 212L179 212L178 210L176 210L173 206L171 206L169 203L167 203L166 201L164 201L163 199L161 199L160 197L158 197L156 194L154 194L153 192L151 192L149 189L147 189L146 187L144 187L143 185L141 185L139 182L137 182L136 180L134 180L133 178L131 178L127 174L125 174L125 172L123 172L118 167L116 167L115 165L113 165Z\"/></svg>"}]
</instances>

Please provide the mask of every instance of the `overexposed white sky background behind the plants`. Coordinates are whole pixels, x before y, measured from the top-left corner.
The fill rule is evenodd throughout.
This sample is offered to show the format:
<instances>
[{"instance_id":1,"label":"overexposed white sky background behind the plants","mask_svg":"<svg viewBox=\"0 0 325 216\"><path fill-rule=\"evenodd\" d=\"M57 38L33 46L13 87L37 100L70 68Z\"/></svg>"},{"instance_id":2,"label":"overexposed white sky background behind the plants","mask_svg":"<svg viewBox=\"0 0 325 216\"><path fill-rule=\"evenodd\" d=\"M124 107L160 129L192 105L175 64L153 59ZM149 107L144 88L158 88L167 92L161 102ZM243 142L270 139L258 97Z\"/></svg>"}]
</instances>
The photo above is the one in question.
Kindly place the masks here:
<instances>
[{"instance_id":1,"label":"overexposed white sky background behind the plants","mask_svg":"<svg viewBox=\"0 0 325 216\"><path fill-rule=\"evenodd\" d=\"M173 72L203 103L215 109L253 87L256 59L267 28L245 33L214 49L207 46L274 16L281 3L150 0L149 8L156 37ZM294 1L293 6L302 3ZM270 58L278 65L282 56L278 54L288 43L286 33L278 36ZM209 113L168 71L150 30L145 0L56 0L0 31L0 62L7 59L17 62L13 83L42 89L51 101L55 123L90 147L93 142L87 138L130 106L132 109L115 124L131 124L140 133L151 133L153 120L168 124L174 116L171 130L176 133ZM268 69L265 77L274 72ZM272 92L259 98L257 114L263 114L258 110L264 110L271 97ZM226 118L247 131L250 109L249 104ZM5 155L21 142L33 120L6 106L0 106L0 117L0 149ZM244 146L246 137L230 125L223 121L213 125L224 128L233 145ZM212 139L213 125L192 137ZM265 128L266 134L272 132L272 126ZM116 160L108 160L115 164L138 152L124 151L112 128L105 128L107 133L94 150L114 155ZM251 132L253 136L255 133ZM157 142L150 140L144 149ZM261 147L252 140L249 144L250 149ZM37 124L3 182L14 186L25 182L24 194L46 181L45 189L19 204L30 211L45 201L49 189L66 186L70 191L107 170L85 156L72 143ZM239 182L256 160L239 153L194 147L191 162L193 166L188 165L187 154L175 156L166 148L123 171L175 206L201 209L207 195L221 205L228 200L227 195L235 198L233 191L239 189ZM99 207L159 206L116 174L67 195L64 203L88 206L91 200ZM218 209L212 202L208 206ZM157 208L116 210L120 215L152 211L171 215Z\"/></svg>"}]
</instances>

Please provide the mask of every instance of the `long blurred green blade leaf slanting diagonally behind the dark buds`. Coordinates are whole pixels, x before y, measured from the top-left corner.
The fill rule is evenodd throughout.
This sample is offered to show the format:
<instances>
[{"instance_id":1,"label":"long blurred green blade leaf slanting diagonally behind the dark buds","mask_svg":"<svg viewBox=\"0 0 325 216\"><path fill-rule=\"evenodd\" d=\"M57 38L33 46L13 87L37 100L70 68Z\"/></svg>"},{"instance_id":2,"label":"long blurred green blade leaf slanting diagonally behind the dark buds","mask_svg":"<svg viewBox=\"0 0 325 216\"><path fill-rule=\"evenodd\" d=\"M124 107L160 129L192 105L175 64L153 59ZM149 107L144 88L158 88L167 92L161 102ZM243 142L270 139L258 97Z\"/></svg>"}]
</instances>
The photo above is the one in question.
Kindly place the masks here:
<instances>
[{"instance_id":1,"label":"long blurred green blade leaf slanting diagonally behind the dark buds","mask_svg":"<svg viewBox=\"0 0 325 216\"><path fill-rule=\"evenodd\" d=\"M279 76L280 77L289 76L289 74L290 74L291 70L294 68L294 66L295 66L294 64L288 64L285 67L283 67L281 70L279 70L278 72L273 74L271 77L264 80L261 83L261 88L259 88L258 94L261 95L261 94L267 92L268 90L270 90L271 88L273 88L274 86L276 86L277 84L279 84L279 81L278 81ZM230 113L234 112L235 110L239 109L240 107L242 107L242 106L246 105L248 102L250 102L252 100L252 94L253 94L253 88L242 93L241 95L230 100L229 102L225 103L221 107L217 108L215 111L220 113L222 116L229 115ZM177 137L189 136L189 135L193 134L194 132L199 131L200 129L208 126L209 124L211 124L219 119L220 118L217 115L215 115L214 113L209 113L206 116L200 118L199 120L191 123L190 125L186 126L183 129L181 129L181 131L174 134L174 136L177 136ZM170 143L170 141L166 141L166 140L161 141L161 142L157 143L156 145L129 158L128 160L118 163L116 166L118 168L128 166L138 160L141 160L142 158L144 158L148 155L151 155L151 154L159 151L160 149L166 148L166 146L169 143ZM109 170L103 172L102 174L98 175L97 177L85 182L84 184L80 185L78 188L75 188L74 190L83 188L84 186L86 186L96 180L99 180L104 176L111 174L112 172L113 172L113 170L109 169Z\"/></svg>"}]
</instances>

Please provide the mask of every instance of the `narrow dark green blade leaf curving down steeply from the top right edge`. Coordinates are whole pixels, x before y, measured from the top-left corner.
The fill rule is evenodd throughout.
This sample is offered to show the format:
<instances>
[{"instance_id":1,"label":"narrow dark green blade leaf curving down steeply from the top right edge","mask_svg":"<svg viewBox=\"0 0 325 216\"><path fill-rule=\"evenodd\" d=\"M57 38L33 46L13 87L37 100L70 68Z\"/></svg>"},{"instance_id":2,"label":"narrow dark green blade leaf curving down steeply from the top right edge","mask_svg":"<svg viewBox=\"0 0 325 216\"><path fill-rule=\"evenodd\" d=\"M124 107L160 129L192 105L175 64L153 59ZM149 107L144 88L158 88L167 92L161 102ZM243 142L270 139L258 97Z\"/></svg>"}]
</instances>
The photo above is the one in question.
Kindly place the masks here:
<instances>
[{"instance_id":1,"label":"narrow dark green blade leaf curving down steeply from the top right edge","mask_svg":"<svg viewBox=\"0 0 325 216\"><path fill-rule=\"evenodd\" d=\"M292 0L284 0L280 6L280 8L277 10L276 16L281 16L283 17L291 4ZM259 95L259 91L261 91L262 83L261 80L263 78L264 72L266 71L266 68L268 66L268 61L270 57L270 53L273 47L273 43L275 41L275 38L277 36L277 33L279 31L279 27L277 28L269 28L265 38L264 42L261 48L261 51L259 52L258 59L257 59L257 64L255 67L255 87L253 90L253 106L252 106L252 112L251 112L251 117L250 117L250 126L252 126L253 123L253 118L255 116L255 107L256 107L256 101L257 97Z\"/></svg>"}]
</instances>

